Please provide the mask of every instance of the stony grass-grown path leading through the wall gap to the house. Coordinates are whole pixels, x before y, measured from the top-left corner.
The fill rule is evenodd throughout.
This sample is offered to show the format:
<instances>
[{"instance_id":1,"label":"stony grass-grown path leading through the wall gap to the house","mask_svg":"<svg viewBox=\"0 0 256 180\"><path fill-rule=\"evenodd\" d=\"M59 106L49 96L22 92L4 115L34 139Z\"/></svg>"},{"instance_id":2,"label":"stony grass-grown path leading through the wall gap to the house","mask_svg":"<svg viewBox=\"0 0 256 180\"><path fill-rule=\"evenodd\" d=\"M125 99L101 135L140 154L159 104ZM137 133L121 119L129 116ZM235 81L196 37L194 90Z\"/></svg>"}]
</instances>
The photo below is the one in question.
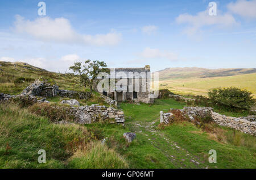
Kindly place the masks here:
<instances>
[{"instance_id":1,"label":"stony grass-grown path leading through the wall gap to the house","mask_svg":"<svg viewBox=\"0 0 256 180\"><path fill-rule=\"evenodd\" d=\"M176 168L208 168L204 166L204 162L199 157L168 139L163 132L156 128L155 122L156 120L154 122L129 122L129 124L135 133L146 136L147 140L159 149Z\"/></svg>"}]
</instances>

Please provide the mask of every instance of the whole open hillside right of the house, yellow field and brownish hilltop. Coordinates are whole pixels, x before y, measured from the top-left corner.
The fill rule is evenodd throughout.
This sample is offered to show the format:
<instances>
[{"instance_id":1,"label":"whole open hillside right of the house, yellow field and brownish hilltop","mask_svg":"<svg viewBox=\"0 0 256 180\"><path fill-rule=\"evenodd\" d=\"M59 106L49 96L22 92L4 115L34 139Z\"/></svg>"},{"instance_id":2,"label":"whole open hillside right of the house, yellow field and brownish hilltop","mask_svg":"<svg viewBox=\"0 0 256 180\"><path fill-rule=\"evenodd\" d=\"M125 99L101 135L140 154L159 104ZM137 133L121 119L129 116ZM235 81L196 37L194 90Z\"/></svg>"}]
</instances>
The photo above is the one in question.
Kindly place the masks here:
<instances>
[{"instance_id":1,"label":"whole open hillside right of the house, yellow field and brownish hilltop","mask_svg":"<svg viewBox=\"0 0 256 180\"><path fill-rule=\"evenodd\" d=\"M160 89L177 94L207 95L210 89L232 86L251 91L256 96L256 68L166 68L158 73Z\"/></svg>"}]
</instances>

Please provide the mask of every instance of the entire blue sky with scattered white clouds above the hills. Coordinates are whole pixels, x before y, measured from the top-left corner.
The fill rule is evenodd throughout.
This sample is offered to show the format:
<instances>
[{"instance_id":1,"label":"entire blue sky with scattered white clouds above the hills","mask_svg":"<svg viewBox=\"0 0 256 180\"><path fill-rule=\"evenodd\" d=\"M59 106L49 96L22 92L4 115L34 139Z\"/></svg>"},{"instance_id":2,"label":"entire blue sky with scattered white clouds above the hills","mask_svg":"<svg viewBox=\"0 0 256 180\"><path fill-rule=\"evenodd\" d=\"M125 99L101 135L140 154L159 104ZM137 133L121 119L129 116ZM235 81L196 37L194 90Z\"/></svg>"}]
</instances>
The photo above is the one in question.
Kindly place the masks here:
<instances>
[{"instance_id":1,"label":"entire blue sky with scattered white clouds above the hills","mask_svg":"<svg viewBox=\"0 0 256 180\"><path fill-rule=\"evenodd\" d=\"M256 0L0 1L0 59L66 72L77 60L109 67L256 68Z\"/></svg>"}]
</instances>

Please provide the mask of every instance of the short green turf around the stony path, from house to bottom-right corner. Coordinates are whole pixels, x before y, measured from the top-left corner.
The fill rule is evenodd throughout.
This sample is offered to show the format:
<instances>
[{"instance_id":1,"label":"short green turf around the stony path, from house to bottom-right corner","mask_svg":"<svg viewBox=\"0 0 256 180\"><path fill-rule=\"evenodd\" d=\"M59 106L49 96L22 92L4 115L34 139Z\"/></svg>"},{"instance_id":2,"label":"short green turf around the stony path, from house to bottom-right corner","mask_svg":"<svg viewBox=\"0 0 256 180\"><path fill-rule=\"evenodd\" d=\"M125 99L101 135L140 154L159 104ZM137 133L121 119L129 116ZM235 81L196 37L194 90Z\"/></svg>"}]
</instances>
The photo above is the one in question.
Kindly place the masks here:
<instances>
[{"instance_id":1,"label":"short green turf around the stony path, from house to bottom-right corner","mask_svg":"<svg viewBox=\"0 0 256 180\"><path fill-rule=\"evenodd\" d=\"M144 127L134 125L135 122L143 124L153 120L157 125L159 124L160 110L168 111L169 108L182 108L183 106L184 104L171 99L159 99L156 104L151 106L148 104L121 104L126 118L129 119L126 126L131 132L136 132L138 137L134 144L126 150L120 150L120 153L130 162L131 168L205 168L207 166L208 168L255 168L256 149L253 145L247 146L246 143L241 143L236 146L230 141L222 143L212 140L210 135L201 133L200 129L191 123L170 125L161 130L159 134L145 131ZM233 133L232 129L224 129L226 129L226 133ZM242 135L248 136L243 138L247 144L255 144L254 136L243 133ZM180 149L185 150L172 149L173 146L164 138L174 141L180 146ZM217 150L217 164L208 162L210 149ZM186 157L186 150L200 162L199 165ZM175 161L171 161L170 156L174 156Z\"/></svg>"}]
</instances>

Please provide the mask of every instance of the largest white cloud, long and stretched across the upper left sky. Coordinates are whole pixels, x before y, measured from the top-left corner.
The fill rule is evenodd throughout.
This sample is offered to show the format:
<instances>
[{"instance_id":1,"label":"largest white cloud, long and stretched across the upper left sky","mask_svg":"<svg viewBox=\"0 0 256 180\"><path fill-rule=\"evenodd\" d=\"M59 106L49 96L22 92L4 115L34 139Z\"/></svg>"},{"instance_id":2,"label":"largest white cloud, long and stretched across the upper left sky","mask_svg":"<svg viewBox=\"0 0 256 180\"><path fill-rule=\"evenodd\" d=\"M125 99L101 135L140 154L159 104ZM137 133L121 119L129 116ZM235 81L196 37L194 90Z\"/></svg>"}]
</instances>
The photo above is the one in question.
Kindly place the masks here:
<instances>
[{"instance_id":1,"label":"largest white cloud, long and stretched across the upper left sky","mask_svg":"<svg viewBox=\"0 0 256 180\"><path fill-rule=\"evenodd\" d=\"M69 20L65 18L51 19L44 17L31 21L16 15L14 26L16 32L26 33L38 40L54 41L57 43L116 45L122 38L122 35L114 30L108 34L79 34L73 30Z\"/></svg>"}]
</instances>

